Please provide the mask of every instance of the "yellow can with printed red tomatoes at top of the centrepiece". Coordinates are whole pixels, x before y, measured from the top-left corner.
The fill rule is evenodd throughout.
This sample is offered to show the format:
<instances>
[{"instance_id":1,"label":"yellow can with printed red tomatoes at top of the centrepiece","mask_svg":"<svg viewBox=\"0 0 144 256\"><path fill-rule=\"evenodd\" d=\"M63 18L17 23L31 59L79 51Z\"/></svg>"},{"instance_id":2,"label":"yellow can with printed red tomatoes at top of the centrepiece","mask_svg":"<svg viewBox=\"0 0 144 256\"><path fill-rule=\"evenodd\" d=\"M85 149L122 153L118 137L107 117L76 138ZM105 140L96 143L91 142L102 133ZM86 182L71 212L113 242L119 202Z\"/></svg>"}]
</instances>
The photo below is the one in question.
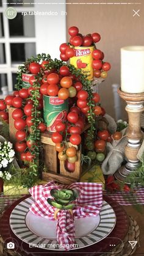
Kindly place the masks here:
<instances>
[{"instance_id":1,"label":"yellow can with printed red tomatoes at top of the centrepiece","mask_svg":"<svg viewBox=\"0 0 144 256\"><path fill-rule=\"evenodd\" d=\"M87 75L87 79L93 80L93 68L92 68L92 51L94 46L77 46L74 47L76 56L70 58L70 64L75 68L81 68L82 74Z\"/></svg>"}]
</instances>

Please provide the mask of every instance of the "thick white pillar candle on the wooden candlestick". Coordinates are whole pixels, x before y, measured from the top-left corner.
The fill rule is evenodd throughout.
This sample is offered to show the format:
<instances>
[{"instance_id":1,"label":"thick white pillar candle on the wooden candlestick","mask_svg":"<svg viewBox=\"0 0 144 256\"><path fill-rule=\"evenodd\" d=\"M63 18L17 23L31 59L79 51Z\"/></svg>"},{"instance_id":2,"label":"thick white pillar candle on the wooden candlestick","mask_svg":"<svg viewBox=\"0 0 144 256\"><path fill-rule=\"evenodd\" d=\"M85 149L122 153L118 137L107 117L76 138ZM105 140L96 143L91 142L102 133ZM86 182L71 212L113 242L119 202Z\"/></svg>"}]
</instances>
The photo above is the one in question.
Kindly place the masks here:
<instances>
[{"instance_id":1,"label":"thick white pillar candle on the wooden candlestick","mask_svg":"<svg viewBox=\"0 0 144 256\"><path fill-rule=\"evenodd\" d=\"M144 92L144 46L121 48L121 90Z\"/></svg>"}]
</instances>

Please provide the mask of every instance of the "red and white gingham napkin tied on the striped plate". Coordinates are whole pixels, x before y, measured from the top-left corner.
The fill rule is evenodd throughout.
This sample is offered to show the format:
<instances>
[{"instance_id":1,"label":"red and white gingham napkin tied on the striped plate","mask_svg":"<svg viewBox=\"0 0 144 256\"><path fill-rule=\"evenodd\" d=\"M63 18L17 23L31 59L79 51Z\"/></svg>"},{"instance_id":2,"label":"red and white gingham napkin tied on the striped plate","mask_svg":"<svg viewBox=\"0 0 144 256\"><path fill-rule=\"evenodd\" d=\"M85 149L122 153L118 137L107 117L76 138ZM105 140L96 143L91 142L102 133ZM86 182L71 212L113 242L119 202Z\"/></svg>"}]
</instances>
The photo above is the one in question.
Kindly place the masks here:
<instances>
[{"instance_id":1,"label":"red and white gingham napkin tied on the striped plate","mask_svg":"<svg viewBox=\"0 0 144 256\"><path fill-rule=\"evenodd\" d=\"M54 181L46 185L38 185L29 189L35 203L32 203L30 211L38 216L54 220L55 207L48 204L47 199L51 197L51 189L70 188L79 191L79 197L74 201L73 216L70 211L60 210L57 213L57 241L68 250L72 248L75 238L74 218L86 216L97 216L103 203L102 185L98 183L77 182L69 186L57 186ZM51 197L52 198L52 197ZM71 245L71 246L70 246Z\"/></svg>"}]
</instances>

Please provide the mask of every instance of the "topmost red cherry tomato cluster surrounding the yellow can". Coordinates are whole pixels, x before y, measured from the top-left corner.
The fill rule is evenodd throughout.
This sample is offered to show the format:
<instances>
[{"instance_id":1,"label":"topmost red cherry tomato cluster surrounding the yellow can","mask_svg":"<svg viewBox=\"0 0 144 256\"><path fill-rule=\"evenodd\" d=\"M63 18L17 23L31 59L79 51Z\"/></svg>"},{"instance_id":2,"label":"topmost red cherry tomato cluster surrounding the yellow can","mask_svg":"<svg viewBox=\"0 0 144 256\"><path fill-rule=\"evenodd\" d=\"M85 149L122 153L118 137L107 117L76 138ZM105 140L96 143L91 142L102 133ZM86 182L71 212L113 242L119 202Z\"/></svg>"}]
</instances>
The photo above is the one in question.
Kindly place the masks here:
<instances>
[{"instance_id":1,"label":"topmost red cherry tomato cluster surrounding the yellow can","mask_svg":"<svg viewBox=\"0 0 144 256\"><path fill-rule=\"evenodd\" d=\"M60 45L60 59L63 61L68 61L71 57L76 56L75 46L95 46L95 43L98 43L101 39L101 35L96 32L85 36L79 34L79 29L75 26L69 27L68 33L70 34L70 43L62 43ZM107 78L107 71L110 70L110 64L109 62L103 61L103 51L96 49L95 46L95 49L92 51L92 57L92 68L95 78ZM79 65L79 68L81 68L81 65Z\"/></svg>"}]
</instances>

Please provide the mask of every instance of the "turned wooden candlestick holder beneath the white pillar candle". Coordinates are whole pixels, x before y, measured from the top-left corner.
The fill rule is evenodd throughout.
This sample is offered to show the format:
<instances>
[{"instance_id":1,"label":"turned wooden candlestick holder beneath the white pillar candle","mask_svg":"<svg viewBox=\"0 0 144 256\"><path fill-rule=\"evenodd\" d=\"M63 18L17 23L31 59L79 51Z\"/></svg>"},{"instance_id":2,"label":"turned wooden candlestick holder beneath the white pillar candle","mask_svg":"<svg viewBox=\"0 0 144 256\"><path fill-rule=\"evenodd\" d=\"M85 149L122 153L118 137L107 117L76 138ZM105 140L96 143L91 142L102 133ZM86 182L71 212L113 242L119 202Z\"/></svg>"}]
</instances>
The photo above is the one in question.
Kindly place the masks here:
<instances>
[{"instance_id":1,"label":"turned wooden candlestick holder beneath the white pillar candle","mask_svg":"<svg viewBox=\"0 0 144 256\"><path fill-rule=\"evenodd\" d=\"M144 93L127 93L118 89L118 93L126 101L126 111L128 112L129 126L126 131L128 144L125 148L125 155L128 162L115 173L115 178L125 183L126 177L135 172L139 167L140 161L137 158L142 143L142 131L140 129L140 117L144 111Z\"/></svg>"}]
</instances>

